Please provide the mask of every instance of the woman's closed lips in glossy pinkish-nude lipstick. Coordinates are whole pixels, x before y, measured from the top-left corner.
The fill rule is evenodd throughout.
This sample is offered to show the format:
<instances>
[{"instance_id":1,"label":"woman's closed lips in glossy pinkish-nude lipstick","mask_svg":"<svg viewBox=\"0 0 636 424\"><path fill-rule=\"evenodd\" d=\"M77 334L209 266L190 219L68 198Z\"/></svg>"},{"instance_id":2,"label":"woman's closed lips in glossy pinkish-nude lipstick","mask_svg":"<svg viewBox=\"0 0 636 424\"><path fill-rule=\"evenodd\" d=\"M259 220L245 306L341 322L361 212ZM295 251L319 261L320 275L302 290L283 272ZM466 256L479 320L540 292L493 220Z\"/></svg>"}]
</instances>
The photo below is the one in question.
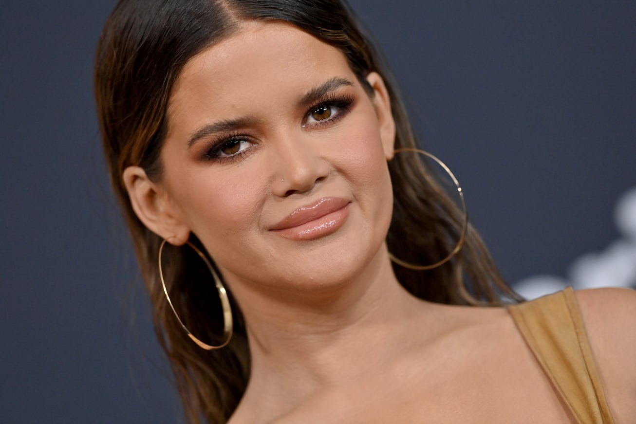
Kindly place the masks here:
<instances>
[{"instance_id":1,"label":"woman's closed lips in glossy pinkish-nude lipstick","mask_svg":"<svg viewBox=\"0 0 636 424\"><path fill-rule=\"evenodd\" d=\"M286 238L313 240L340 228L349 216L349 200L324 197L317 202L300 207L278 222L270 231Z\"/></svg>"}]
</instances>

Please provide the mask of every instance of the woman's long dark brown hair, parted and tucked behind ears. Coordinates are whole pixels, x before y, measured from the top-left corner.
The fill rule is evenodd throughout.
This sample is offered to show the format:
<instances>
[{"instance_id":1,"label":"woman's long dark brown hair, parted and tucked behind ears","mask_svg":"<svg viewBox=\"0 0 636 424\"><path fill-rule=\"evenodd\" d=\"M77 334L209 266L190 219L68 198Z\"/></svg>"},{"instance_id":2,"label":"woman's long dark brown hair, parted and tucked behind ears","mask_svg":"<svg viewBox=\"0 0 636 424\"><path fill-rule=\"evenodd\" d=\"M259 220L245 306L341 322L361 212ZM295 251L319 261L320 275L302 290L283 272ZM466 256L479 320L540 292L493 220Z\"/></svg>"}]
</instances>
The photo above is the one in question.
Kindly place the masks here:
<instances>
[{"instance_id":1,"label":"woman's long dark brown hair, parted and tucked behind ears","mask_svg":"<svg viewBox=\"0 0 636 424\"><path fill-rule=\"evenodd\" d=\"M364 36L347 4L338 0L121 0L106 22L97 50L95 97L113 189L127 220L139 266L154 308L155 329L165 350L190 422L225 422L249 378L249 346L235 301L234 336L221 350L205 351L186 337L163 296L157 254L162 241L137 218L121 175L137 165L153 181L162 177L160 151L167 128L172 86L194 55L227 38L245 20L289 22L342 51L363 85L369 72L385 80L396 121L396 149L417 145L391 73ZM394 209L389 251L415 264L438 261L453 249L462 216L422 168L416 154L389 162ZM198 243L195 236L191 242ZM198 243L199 247L202 247ZM190 249L174 248L164 265L170 298L197 336L220 343L218 294L202 261ZM464 248L430 271L394 266L415 296L440 303L501 303L518 297L502 282L472 227Z\"/></svg>"}]
</instances>

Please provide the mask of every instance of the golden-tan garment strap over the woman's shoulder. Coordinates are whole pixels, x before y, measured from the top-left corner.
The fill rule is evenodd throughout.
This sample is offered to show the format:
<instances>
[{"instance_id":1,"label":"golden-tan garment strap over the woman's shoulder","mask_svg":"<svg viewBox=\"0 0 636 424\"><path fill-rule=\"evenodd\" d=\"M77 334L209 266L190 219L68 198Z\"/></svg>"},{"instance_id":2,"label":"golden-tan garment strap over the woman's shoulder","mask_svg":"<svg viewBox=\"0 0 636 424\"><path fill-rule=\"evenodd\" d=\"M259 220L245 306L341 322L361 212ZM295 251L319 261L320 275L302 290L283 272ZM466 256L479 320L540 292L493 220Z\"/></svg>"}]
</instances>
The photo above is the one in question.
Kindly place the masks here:
<instances>
[{"instance_id":1,"label":"golden-tan garment strap over the woman's shoulder","mask_svg":"<svg viewBox=\"0 0 636 424\"><path fill-rule=\"evenodd\" d=\"M572 288L508 310L577 422L614 424Z\"/></svg>"}]
</instances>

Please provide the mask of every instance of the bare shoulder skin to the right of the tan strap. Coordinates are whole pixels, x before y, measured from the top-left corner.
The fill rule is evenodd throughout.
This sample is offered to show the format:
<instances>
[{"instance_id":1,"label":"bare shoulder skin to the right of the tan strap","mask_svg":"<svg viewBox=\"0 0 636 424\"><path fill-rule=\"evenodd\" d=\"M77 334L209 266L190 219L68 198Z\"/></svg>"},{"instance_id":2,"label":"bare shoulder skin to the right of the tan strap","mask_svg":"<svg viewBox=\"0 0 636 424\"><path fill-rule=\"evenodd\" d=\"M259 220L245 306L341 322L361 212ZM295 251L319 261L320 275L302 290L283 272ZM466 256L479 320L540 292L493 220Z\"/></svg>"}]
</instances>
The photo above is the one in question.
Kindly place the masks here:
<instances>
[{"instance_id":1,"label":"bare shoulder skin to the right of the tan strap","mask_svg":"<svg viewBox=\"0 0 636 424\"><path fill-rule=\"evenodd\" d=\"M617 423L629 422L636 416L636 291L582 290L576 300L609 407Z\"/></svg>"}]
</instances>

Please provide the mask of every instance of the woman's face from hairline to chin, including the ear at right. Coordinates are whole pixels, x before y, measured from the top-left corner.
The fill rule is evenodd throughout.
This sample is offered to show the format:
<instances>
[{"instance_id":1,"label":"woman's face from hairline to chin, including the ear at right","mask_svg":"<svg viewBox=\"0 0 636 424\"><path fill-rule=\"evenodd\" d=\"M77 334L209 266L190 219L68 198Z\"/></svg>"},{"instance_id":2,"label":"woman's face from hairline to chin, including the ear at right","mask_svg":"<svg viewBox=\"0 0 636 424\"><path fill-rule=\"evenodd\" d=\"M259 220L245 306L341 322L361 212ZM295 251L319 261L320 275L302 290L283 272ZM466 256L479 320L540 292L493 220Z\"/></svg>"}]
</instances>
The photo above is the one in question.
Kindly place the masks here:
<instances>
[{"instance_id":1,"label":"woman's face from hairline to chin, including the ear at right","mask_svg":"<svg viewBox=\"0 0 636 424\"><path fill-rule=\"evenodd\" d=\"M394 123L342 53L295 27L249 22L192 58L168 110L160 196L230 284L344 281L391 221Z\"/></svg>"}]
</instances>

